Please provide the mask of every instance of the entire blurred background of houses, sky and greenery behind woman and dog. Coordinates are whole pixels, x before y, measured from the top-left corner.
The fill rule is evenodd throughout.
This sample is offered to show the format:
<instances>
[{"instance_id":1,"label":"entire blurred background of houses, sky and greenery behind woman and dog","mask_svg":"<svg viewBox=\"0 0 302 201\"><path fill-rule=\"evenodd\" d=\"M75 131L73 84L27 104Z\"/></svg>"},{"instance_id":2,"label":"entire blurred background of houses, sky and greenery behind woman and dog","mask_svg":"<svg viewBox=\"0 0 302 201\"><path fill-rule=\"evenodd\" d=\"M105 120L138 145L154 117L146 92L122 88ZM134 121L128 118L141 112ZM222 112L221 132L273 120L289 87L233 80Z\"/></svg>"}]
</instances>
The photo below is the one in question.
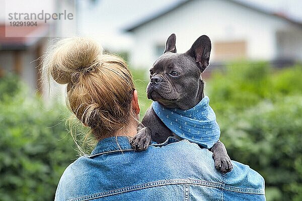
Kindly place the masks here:
<instances>
[{"instance_id":1,"label":"entire blurred background of houses, sky and greenery behind woman and dog","mask_svg":"<svg viewBox=\"0 0 302 201\"><path fill-rule=\"evenodd\" d=\"M298 0L0 0L0 200L53 200L78 157L65 88L40 81L38 58L56 38L89 36L123 57L142 118L148 68L171 33L179 53L200 35L211 39L205 93L230 157L265 178L267 200L302 200L301 8ZM8 19L41 10L74 18L19 27Z\"/></svg>"}]
</instances>

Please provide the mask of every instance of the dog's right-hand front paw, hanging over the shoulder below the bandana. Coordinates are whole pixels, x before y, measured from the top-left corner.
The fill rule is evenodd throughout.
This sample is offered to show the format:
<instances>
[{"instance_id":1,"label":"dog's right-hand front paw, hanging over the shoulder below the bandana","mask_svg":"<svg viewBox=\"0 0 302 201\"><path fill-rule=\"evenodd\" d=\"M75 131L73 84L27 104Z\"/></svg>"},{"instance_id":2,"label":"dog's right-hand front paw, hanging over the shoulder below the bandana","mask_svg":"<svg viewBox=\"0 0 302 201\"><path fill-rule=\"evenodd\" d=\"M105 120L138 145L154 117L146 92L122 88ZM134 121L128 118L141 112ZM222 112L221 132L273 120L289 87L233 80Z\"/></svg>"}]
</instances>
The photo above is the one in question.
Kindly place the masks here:
<instances>
[{"instance_id":1,"label":"dog's right-hand front paw, hanging over the shoulder below the bandana","mask_svg":"<svg viewBox=\"0 0 302 201\"><path fill-rule=\"evenodd\" d=\"M225 149L222 142L218 140L210 151L213 152L213 159L215 163L215 168L222 173L230 172L233 169L231 158Z\"/></svg>"}]
</instances>

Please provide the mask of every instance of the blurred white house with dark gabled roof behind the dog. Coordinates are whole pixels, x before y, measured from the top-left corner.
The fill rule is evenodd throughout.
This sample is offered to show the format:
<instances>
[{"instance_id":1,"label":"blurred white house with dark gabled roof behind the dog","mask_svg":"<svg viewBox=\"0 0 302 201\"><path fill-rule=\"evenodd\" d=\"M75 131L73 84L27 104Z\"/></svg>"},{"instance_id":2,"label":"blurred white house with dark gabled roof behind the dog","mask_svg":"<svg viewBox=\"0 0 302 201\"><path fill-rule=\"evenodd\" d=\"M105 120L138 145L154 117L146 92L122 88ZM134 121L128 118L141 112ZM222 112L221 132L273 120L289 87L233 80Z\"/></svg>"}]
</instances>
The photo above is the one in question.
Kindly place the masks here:
<instances>
[{"instance_id":1,"label":"blurred white house with dark gabled roof behind the dog","mask_svg":"<svg viewBox=\"0 0 302 201\"><path fill-rule=\"evenodd\" d=\"M180 53L200 35L209 36L212 65L233 59L302 60L301 23L234 0L181 1L125 31L134 38L129 62L135 67L150 67L171 33Z\"/></svg>"}]
</instances>

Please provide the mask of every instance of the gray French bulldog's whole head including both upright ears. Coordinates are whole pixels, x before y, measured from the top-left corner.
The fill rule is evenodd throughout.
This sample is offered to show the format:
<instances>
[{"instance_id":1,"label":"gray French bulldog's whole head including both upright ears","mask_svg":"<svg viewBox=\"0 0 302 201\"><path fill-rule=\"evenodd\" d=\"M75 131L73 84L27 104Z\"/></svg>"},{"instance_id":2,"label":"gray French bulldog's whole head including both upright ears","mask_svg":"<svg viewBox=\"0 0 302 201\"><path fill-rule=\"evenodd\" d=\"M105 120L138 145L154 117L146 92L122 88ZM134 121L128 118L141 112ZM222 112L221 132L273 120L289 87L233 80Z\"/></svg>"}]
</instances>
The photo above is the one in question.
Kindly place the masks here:
<instances>
[{"instance_id":1,"label":"gray French bulldog's whole head including both upright ears","mask_svg":"<svg viewBox=\"0 0 302 201\"><path fill-rule=\"evenodd\" d=\"M201 72L208 65L210 51L208 37L201 37L183 54L176 53L175 34L168 38L164 54L150 68L148 98L167 108L182 110L190 109L200 101L203 93ZM200 47L204 45L200 42L204 41L206 47ZM198 50L201 50L201 55L196 52Z\"/></svg>"}]
</instances>

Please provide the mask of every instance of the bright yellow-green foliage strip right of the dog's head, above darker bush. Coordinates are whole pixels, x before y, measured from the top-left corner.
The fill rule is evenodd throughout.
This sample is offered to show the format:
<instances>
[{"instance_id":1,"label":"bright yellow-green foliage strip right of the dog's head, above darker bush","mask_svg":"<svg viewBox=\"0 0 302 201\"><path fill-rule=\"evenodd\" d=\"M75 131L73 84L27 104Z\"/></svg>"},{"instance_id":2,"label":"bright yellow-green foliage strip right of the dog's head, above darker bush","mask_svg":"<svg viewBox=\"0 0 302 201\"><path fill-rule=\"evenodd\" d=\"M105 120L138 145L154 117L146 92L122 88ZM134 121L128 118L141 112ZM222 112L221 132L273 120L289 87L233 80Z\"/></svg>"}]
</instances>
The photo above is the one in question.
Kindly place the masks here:
<instances>
[{"instance_id":1,"label":"bright yellow-green foliage strip right of the dog's head, above darker bush","mask_svg":"<svg viewBox=\"0 0 302 201\"><path fill-rule=\"evenodd\" d=\"M276 101L284 95L301 94L302 67L273 70L266 62L238 62L215 72L206 91L211 95L215 111L244 110L262 100Z\"/></svg>"}]
</instances>

